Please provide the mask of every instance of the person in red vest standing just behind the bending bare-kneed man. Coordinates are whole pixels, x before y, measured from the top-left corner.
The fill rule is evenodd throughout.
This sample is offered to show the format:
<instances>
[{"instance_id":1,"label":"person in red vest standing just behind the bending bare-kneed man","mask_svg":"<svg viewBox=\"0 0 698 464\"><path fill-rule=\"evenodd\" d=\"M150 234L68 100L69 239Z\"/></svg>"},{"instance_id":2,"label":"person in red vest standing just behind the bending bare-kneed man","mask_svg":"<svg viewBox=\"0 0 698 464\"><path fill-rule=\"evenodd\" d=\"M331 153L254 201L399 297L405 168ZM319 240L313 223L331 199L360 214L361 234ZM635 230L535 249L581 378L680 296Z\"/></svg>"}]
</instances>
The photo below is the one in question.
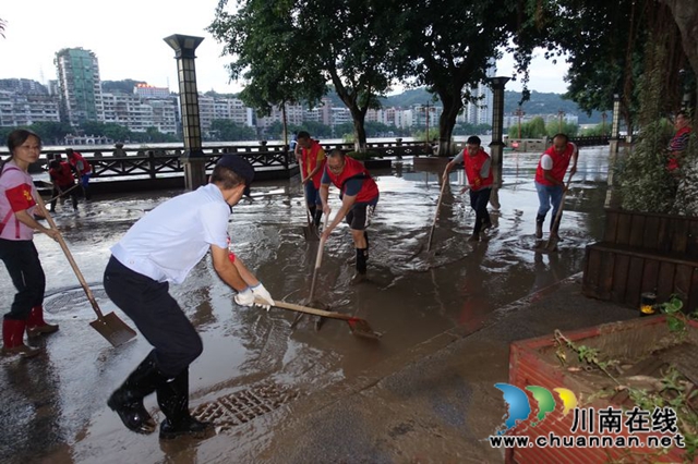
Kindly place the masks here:
<instances>
[{"instance_id":1,"label":"person in red vest standing just behind the bending bare-kneed man","mask_svg":"<svg viewBox=\"0 0 698 464\"><path fill-rule=\"evenodd\" d=\"M300 151L298 160L301 164L301 176L303 178L308 209L315 227L318 227L323 217L320 181L325 167L325 150L317 141L310 138L310 134L305 131L298 133L297 143Z\"/></svg>"}]
</instances>

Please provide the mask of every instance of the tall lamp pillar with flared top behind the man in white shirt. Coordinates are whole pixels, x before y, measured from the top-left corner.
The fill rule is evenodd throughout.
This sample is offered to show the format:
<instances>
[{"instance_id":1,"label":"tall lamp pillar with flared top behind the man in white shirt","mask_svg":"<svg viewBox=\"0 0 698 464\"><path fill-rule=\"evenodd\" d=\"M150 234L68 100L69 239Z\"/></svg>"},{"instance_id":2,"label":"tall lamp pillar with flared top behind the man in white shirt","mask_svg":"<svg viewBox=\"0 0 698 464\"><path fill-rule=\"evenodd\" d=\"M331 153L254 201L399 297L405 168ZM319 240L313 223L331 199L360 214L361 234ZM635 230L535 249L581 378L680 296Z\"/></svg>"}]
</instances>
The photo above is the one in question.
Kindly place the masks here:
<instances>
[{"instance_id":1,"label":"tall lamp pillar with flared top behind the man in white shirt","mask_svg":"<svg viewBox=\"0 0 698 464\"><path fill-rule=\"evenodd\" d=\"M182 113L184 138L184 185L193 191L206 184L206 158L201 144L201 121L198 119L198 90L196 89L196 68L194 50L203 37L174 34L164 38L174 50L177 75L179 76L179 99Z\"/></svg>"}]
</instances>

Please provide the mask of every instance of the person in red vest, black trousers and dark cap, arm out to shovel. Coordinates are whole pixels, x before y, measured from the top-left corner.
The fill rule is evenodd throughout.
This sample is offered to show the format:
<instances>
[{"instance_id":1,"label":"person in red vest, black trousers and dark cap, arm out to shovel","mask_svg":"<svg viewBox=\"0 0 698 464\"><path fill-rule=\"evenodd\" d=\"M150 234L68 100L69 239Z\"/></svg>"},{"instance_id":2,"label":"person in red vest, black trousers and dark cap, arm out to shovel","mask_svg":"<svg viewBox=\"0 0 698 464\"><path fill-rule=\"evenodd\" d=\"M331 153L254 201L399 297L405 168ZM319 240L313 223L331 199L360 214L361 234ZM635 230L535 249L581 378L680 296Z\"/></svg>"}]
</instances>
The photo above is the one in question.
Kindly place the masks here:
<instances>
[{"instance_id":1,"label":"person in red vest, black trousers and dark cap, arm out to shovel","mask_svg":"<svg viewBox=\"0 0 698 464\"><path fill-rule=\"evenodd\" d=\"M480 137L477 135L468 137L466 149L446 164L446 173L450 172L459 162L464 163L466 170L466 178L468 178L466 188L470 191L470 206L476 210L476 224L472 229L472 235L468 239L469 242L479 242L480 232L492 227L488 211L488 203L490 203L490 194L494 183L492 159L480 144Z\"/></svg>"}]
</instances>

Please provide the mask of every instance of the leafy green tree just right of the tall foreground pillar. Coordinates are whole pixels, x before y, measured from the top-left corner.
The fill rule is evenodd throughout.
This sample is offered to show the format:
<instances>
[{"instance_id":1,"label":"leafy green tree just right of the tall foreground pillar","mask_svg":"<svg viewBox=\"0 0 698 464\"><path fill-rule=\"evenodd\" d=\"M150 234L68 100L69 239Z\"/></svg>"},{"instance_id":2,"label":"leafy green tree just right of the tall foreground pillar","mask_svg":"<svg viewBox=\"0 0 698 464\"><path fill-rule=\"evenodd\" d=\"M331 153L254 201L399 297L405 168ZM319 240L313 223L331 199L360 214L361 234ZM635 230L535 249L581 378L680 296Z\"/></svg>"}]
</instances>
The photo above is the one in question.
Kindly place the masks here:
<instances>
[{"instance_id":1,"label":"leafy green tree just right of the tall foreground pillar","mask_svg":"<svg viewBox=\"0 0 698 464\"><path fill-rule=\"evenodd\" d=\"M286 87L291 76L306 99L320 85L332 82L351 112L354 145L365 149L364 120L369 108L389 88L397 68L397 38L401 34L388 9L396 1L381 0L244 0L236 14L216 12L210 26L226 44L226 53L238 57L231 75L245 70L253 85L249 98L279 105L298 100ZM323 93L324 93L323 88Z\"/></svg>"}]
</instances>

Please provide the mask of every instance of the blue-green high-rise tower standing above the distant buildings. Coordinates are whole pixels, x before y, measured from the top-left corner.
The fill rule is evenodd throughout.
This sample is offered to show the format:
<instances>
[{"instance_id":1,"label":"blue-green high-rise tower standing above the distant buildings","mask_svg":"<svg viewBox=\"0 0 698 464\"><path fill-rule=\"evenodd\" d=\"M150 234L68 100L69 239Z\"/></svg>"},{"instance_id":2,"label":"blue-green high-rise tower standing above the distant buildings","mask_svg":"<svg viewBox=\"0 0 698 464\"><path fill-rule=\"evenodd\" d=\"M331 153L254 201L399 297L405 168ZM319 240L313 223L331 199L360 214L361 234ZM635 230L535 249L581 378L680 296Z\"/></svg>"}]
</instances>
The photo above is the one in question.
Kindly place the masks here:
<instances>
[{"instance_id":1,"label":"blue-green high-rise tower standing above the distant buildings","mask_svg":"<svg viewBox=\"0 0 698 464\"><path fill-rule=\"evenodd\" d=\"M73 126L84 121L104 121L101 83L97 56L83 48L56 53L61 120Z\"/></svg>"}]
</instances>

